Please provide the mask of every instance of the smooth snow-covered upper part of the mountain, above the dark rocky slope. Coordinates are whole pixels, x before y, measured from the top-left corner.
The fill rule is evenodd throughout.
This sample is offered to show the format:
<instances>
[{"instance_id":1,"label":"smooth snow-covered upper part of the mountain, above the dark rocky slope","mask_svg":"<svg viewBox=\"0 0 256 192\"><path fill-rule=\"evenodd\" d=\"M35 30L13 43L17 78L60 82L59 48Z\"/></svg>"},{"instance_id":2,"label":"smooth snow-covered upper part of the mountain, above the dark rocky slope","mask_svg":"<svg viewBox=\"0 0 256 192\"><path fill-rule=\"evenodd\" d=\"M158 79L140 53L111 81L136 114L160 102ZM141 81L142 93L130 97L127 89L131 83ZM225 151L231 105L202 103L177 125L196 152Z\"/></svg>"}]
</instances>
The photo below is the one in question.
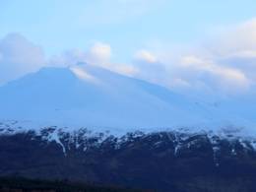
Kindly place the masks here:
<instances>
[{"instance_id":1,"label":"smooth snow-covered upper part of the mountain, above the dark rocky slope","mask_svg":"<svg viewBox=\"0 0 256 192\"><path fill-rule=\"evenodd\" d=\"M243 103L245 106L243 106ZM158 85L78 64L43 68L0 88L0 119L29 126L216 128L254 125L251 101L201 102Z\"/></svg>"}]
</instances>

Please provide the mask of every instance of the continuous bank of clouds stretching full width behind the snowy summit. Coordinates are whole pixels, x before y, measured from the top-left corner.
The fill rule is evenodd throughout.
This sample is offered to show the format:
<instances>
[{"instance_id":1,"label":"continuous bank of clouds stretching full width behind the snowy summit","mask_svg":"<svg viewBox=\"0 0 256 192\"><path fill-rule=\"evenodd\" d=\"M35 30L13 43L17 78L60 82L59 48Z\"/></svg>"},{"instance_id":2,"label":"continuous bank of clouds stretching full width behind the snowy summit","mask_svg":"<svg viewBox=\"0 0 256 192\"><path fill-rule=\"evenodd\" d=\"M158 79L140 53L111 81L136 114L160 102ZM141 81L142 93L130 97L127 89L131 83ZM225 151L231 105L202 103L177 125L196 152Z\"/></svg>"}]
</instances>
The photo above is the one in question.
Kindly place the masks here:
<instances>
[{"instance_id":1,"label":"continuous bank of clouds stretching full width behind the snowy summit","mask_svg":"<svg viewBox=\"0 0 256 192\"><path fill-rule=\"evenodd\" d=\"M185 48L184 48L185 49ZM256 83L256 19L214 32L186 51L139 49L130 62L116 62L110 44L96 41L87 49L69 49L45 58L40 46L18 33L0 41L0 84L42 66L86 62L177 91L229 95L252 92ZM218 94L217 94L218 93Z\"/></svg>"}]
</instances>

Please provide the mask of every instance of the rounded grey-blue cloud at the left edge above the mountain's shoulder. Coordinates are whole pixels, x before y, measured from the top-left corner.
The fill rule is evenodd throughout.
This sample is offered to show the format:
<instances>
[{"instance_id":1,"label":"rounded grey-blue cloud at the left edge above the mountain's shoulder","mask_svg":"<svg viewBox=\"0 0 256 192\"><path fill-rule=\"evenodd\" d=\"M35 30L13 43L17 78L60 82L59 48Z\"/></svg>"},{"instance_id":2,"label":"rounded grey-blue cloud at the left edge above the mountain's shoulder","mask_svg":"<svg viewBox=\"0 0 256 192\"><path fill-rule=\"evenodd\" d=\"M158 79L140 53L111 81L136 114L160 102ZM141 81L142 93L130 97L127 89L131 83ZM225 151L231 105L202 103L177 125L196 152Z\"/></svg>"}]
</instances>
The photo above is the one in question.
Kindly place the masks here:
<instances>
[{"instance_id":1,"label":"rounded grey-blue cloud at the left edge above the mountain's shoulder","mask_svg":"<svg viewBox=\"0 0 256 192\"><path fill-rule=\"evenodd\" d=\"M0 85L45 64L41 47L19 33L10 33L0 40L0 55Z\"/></svg>"}]
</instances>

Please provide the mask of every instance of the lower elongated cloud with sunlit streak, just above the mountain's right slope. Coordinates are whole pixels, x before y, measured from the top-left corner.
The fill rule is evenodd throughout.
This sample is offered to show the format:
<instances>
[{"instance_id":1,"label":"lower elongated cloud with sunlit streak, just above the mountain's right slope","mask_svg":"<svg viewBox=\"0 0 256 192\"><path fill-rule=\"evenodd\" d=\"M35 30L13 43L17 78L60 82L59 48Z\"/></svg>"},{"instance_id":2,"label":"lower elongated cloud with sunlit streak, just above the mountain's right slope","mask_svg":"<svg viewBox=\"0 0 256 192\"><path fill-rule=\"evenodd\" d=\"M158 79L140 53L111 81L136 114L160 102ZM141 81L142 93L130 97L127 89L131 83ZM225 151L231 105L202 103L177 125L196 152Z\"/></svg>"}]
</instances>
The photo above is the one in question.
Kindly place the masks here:
<instances>
[{"instance_id":1,"label":"lower elongated cloud with sunlit streak, just above the mountain's right slope","mask_svg":"<svg viewBox=\"0 0 256 192\"><path fill-rule=\"evenodd\" d=\"M217 60L218 61L218 60ZM240 94L248 91L251 79L242 70L196 55L184 55L176 60L137 61L137 77L176 91Z\"/></svg>"}]
</instances>

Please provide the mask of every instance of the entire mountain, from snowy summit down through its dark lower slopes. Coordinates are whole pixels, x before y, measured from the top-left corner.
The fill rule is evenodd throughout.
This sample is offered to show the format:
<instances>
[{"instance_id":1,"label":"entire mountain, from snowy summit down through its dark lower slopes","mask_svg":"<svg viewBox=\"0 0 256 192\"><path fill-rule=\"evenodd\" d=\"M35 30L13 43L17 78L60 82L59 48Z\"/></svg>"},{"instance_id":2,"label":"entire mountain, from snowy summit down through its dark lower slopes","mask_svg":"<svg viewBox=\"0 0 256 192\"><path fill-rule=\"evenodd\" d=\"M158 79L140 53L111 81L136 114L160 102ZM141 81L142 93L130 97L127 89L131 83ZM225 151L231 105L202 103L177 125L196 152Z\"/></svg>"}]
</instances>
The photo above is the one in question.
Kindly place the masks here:
<instances>
[{"instance_id":1,"label":"entire mountain, from snowy summit down through its dark lower slopes","mask_svg":"<svg viewBox=\"0 0 256 192\"><path fill-rule=\"evenodd\" d=\"M254 192L254 103L192 99L86 64L44 68L0 88L0 176Z\"/></svg>"}]
</instances>

